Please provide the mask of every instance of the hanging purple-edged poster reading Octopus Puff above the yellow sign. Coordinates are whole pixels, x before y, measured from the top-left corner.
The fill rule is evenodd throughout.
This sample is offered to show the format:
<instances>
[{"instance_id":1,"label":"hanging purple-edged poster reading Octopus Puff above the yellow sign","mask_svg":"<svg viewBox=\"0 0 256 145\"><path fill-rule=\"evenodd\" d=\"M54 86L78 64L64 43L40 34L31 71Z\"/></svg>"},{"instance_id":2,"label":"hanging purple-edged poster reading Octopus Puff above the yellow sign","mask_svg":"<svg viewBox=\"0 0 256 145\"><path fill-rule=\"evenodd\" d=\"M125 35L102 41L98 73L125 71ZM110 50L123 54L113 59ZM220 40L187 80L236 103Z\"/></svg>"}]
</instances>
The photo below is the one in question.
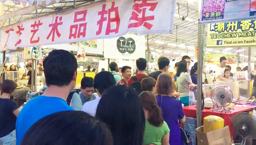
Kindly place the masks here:
<instances>
[{"instance_id":1,"label":"hanging purple-edged poster reading Octopus Puff above the yellow sign","mask_svg":"<svg viewBox=\"0 0 256 145\"><path fill-rule=\"evenodd\" d=\"M200 24L256 19L256 0L202 0Z\"/></svg>"}]
</instances>

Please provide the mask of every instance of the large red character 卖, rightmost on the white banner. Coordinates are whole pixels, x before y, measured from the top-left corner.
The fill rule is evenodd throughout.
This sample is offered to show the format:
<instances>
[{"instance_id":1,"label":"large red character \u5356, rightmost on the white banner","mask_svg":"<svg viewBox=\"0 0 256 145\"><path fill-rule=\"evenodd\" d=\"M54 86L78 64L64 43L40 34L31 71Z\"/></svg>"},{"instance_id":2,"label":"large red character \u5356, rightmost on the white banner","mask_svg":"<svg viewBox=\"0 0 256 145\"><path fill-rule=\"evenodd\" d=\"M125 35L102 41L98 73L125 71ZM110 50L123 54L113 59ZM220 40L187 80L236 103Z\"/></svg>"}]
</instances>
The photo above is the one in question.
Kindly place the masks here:
<instances>
[{"instance_id":1,"label":"large red character \u5356, rightmost on the white banner","mask_svg":"<svg viewBox=\"0 0 256 145\"><path fill-rule=\"evenodd\" d=\"M137 21L135 23L131 23L128 25L128 28L138 28L140 26L144 26L145 28L147 28L148 30L150 30L152 28L152 24L146 22L146 21L151 21L155 19L155 16L145 16L146 7L150 7L149 11L154 11L158 2L148 2L148 1L155 1L155 0L134 0L135 2L140 2L140 3L135 3L133 5L133 11L131 13L131 18L129 21L134 20ZM139 16L141 16L139 18Z\"/></svg>"}]
</instances>

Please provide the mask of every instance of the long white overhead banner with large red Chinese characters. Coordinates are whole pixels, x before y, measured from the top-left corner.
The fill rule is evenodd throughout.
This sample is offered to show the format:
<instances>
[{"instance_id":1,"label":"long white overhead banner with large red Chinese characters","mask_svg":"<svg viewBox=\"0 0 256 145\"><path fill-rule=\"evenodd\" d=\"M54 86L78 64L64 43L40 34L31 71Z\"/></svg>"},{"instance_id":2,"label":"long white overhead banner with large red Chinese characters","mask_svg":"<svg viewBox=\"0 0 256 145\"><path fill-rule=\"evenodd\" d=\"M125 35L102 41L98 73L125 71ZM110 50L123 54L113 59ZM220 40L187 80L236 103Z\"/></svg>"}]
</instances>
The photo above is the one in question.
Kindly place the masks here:
<instances>
[{"instance_id":1,"label":"long white overhead banner with large red Chinese characters","mask_svg":"<svg viewBox=\"0 0 256 145\"><path fill-rule=\"evenodd\" d=\"M172 33L177 0L106 0L2 28L0 51L103 38ZM10 39L9 39L10 38Z\"/></svg>"}]
</instances>

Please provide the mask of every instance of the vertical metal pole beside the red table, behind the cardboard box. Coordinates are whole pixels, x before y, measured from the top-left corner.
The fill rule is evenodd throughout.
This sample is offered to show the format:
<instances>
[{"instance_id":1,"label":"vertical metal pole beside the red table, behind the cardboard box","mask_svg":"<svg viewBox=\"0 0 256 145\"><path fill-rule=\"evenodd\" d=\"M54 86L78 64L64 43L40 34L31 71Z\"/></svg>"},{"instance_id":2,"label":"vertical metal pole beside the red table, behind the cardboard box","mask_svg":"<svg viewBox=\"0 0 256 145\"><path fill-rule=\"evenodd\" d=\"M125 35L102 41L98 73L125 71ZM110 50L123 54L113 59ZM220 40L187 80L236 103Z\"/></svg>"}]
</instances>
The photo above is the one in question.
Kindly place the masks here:
<instances>
[{"instance_id":1,"label":"vertical metal pole beside the red table, behind the cardboard box","mask_svg":"<svg viewBox=\"0 0 256 145\"><path fill-rule=\"evenodd\" d=\"M197 127L202 125L202 77L203 77L203 30L204 25L198 25L198 57L197 57L197 101L196 101L196 119Z\"/></svg>"}]
</instances>

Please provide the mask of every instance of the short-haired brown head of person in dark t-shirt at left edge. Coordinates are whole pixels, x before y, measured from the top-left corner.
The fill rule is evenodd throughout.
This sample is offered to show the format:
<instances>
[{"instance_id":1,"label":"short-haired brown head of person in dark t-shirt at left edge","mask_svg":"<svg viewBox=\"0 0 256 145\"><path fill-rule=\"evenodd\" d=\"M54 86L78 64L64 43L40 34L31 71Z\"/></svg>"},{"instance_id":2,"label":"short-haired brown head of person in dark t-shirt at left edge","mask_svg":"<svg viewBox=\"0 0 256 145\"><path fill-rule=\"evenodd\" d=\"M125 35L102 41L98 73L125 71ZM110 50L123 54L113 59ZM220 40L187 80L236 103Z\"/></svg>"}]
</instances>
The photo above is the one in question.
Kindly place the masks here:
<instances>
[{"instance_id":1,"label":"short-haired brown head of person in dark t-shirt at left edge","mask_svg":"<svg viewBox=\"0 0 256 145\"><path fill-rule=\"evenodd\" d=\"M1 85L1 91L2 93L11 94L14 92L14 90L18 87L18 85L12 81L12 80L4 80Z\"/></svg>"}]
</instances>

